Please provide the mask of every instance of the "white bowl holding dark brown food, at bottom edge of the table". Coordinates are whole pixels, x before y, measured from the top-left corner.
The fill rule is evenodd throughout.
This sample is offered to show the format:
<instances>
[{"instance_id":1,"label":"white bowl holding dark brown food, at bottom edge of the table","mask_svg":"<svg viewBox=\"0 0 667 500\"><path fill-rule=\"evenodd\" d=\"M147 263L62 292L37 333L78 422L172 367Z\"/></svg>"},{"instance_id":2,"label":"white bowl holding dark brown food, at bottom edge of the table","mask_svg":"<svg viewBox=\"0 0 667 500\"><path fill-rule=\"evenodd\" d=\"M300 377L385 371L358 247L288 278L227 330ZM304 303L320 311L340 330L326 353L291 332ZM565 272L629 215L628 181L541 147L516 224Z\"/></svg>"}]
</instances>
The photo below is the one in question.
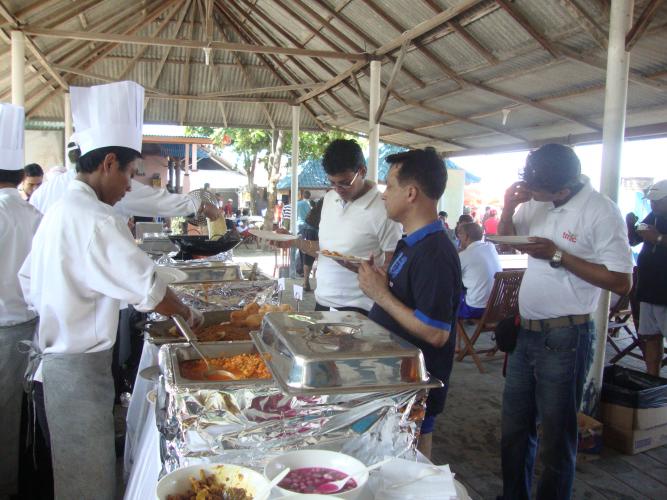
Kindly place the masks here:
<instances>
[{"instance_id":1,"label":"white bowl holding dark brown food, at bottom edge of the table","mask_svg":"<svg viewBox=\"0 0 667 500\"><path fill-rule=\"evenodd\" d=\"M199 479L200 470L203 470L207 475L215 474L218 480L225 485L244 488L254 496L255 500L267 500L269 498L270 491L266 490L269 481L259 472L240 465L199 464L176 469L160 479L156 491L158 500L167 500L168 495L184 494L191 488L190 478Z\"/></svg>"}]
</instances>

